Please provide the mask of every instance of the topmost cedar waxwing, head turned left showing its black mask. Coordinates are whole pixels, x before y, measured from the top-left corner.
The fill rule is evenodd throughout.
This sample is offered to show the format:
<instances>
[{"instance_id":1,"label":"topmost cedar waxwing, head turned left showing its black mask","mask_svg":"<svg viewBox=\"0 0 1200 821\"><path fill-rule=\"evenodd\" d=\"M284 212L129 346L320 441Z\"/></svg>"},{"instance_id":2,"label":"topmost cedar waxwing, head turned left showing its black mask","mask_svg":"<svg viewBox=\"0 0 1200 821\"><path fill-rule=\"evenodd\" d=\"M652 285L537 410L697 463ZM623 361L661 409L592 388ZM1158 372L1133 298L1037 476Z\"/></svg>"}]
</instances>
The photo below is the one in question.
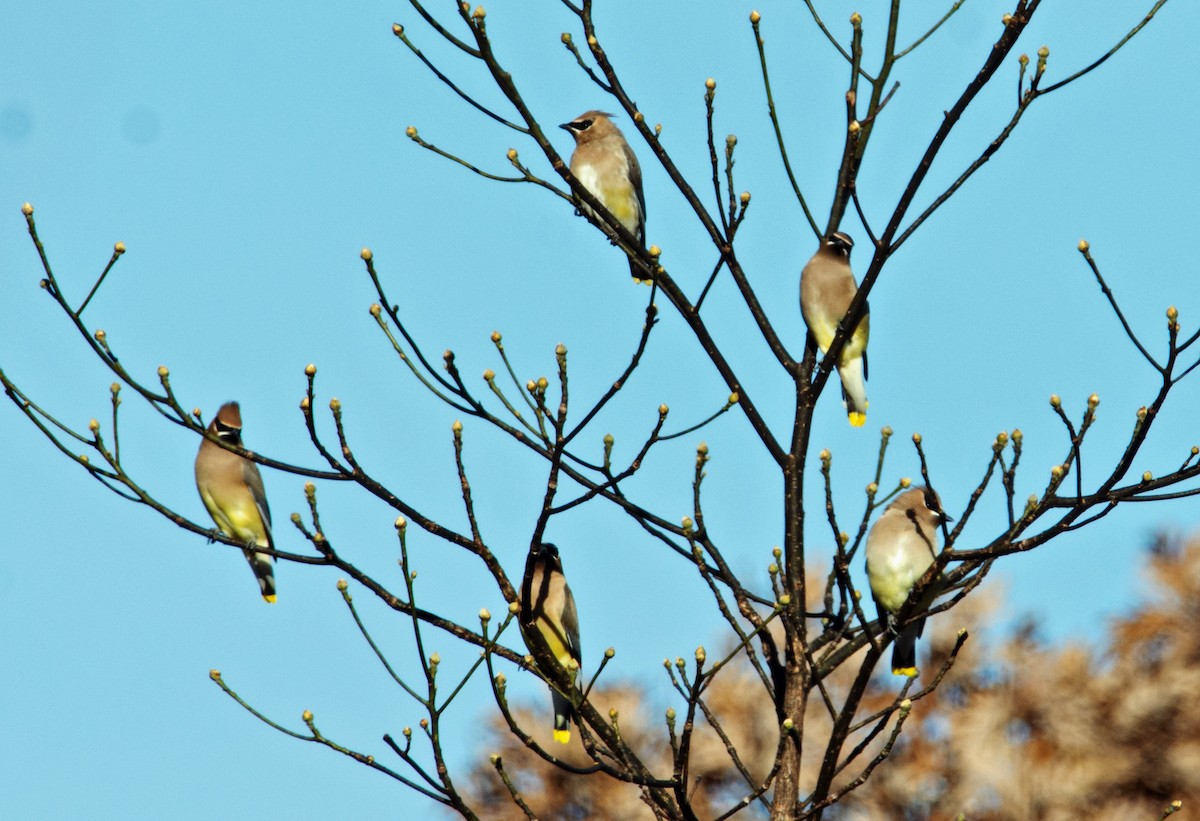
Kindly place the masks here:
<instances>
[{"instance_id":1,"label":"topmost cedar waxwing, head turned left showing its black mask","mask_svg":"<svg viewBox=\"0 0 1200 821\"><path fill-rule=\"evenodd\" d=\"M634 149L629 148L625 136L612 124L611 116L612 114L604 112L584 112L559 126L575 138L571 173L637 238L637 244L646 247L642 168L637 164ZM584 212L592 210L584 203L580 203L580 209ZM629 260L629 271L638 282L646 280L646 271L632 259Z\"/></svg>"}]
</instances>

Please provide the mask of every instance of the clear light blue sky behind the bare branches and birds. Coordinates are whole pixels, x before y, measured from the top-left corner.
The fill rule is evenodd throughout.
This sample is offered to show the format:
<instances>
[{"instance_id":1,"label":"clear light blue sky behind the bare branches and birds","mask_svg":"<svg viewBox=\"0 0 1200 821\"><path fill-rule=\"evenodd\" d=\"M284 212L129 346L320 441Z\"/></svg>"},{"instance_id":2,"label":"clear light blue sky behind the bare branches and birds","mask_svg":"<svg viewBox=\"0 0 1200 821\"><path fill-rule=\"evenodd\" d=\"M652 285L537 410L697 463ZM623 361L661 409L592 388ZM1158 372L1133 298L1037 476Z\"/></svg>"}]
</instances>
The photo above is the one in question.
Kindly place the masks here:
<instances>
[{"instance_id":1,"label":"clear light blue sky behind the bare branches and birds","mask_svg":"<svg viewBox=\"0 0 1200 821\"><path fill-rule=\"evenodd\" d=\"M848 36L850 11L863 13L868 54L882 35L886 5L818 4L841 36ZM1049 44L1049 79L1061 78L1116 42L1140 19L1142 5L1148 7L1046 4L1020 49ZM755 6L712 4L688 14L646 6L636 18L599 10L605 46L701 191L708 191L703 82L716 78L718 133L738 134L736 185L754 193L739 257L798 353L804 326L797 280L815 242L773 148L746 23ZM824 215L847 71L796 6L757 7L793 162ZM872 221L882 223L890 212L941 112L978 70L1007 10L972 0L898 66L901 88L859 178ZM206 414L240 400L248 447L318 466L296 409L302 370L316 362L319 407L330 396L343 402L352 442L368 468L451 527L464 526L450 438L456 414L422 392L374 328L362 246L374 251L392 301L425 349L437 356L452 348L468 378L500 370L488 341L493 329L503 331L522 377L552 376L553 347L565 343L580 402L602 392L626 361L647 292L628 282L619 252L546 192L486 182L406 139L404 127L415 125L426 139L499 173L508 169L505 150L515 146L551 175L530 143L516 142L442 89L396 41L391 24L401 22L458 82L503 106L484 70L439 47L404 4L337 11L318 4L24 4L4 18L0 366L65 423L83 429L91 417L104 419L112 378L37 287L42 274L19 212L25 200L37 209L55 274L74 301L113 242L126 244L128 252L84 316L90 328L107 331L132 372L152 383L155 367L169 365L181 401ZM900 40L912 40L934 18L931 10L913 12ZM557 6L532 14L497 4L487 19L502 60L545 125L612 107L558 42L560 31L574 29ZM1100 396L1085 475L1094 479L1120 451L1134 412L1156 385L1075 245L1081 236L1092 242L1152 350L1163 349L1168 305L1178 306L1186 331L1195 328L1200 300L1187 238L1200 211L1200 185L1182 136L1195 125L1200 103L1188 82L1198 24L1194 4L1168 4L1114 60L1039 101L1003 150L886 270L871 295L868 426L846 425L834 391L817 410L814 443L834 453L845 520L860 514L884 424L898 433L884 485L917 474L907 437L920 431L952 511L966 503L1001 430L1025 431L1019 495L1044 487L1050 466L1066 453L1046 402L1051 392L1073 418L1088 394ZM955 132L918 206L1009 116L1012 62ZM570 150L565 133L554 139L559 151ZM648 150L640 154L648 239L696 293L713 254ZM865 246L859 226L844 227ZM727 278L708 305L714 332L748 390L775 430L785 431L791 391ZM581 437L593 454L612 431L618 459L628 460L659 403L672 409L667 430L678 430L716 409L727 394L662 307L626 395ZM1165 473L1200 444L1196 398L1194 379L1177 390L1138 472ZM164 503L206 521L192 481L197 441L132 396L122 414L127 467ZM466 460L485 537L510 575L520 576L545 468L503 436L466 421ZM780 493L738 414L664 444L629 492L668 517L686 515L701 438L712 450L708 525L743 577L764 588L769 551L780 540ZM329 737L389 760L379 737L415 725L420 713L358 637L336 575L283 565L280 601L269 607L235 550L206 545L110 496L7 403L0 404L0 451L10 477L0 495L7 531L0 550L0 814L432 811L364 767L268 730L208 678L210 667L220 667L272 718L301 729L300 713L312 709ZM302 480L264 474L280 541L302 549L287 522L304 505ZM815 477L809 498L818 487ZM342 486L323 485L318 498L335 544L398 588L395 513ZM989 498L961 546L992 535L1001 507L998 496ZM1195 501L1120 509L1093 528L1001 563L988 585L1008 592L1006 617L1032 615L1052 640L1096 641L1106 619L1146 593L1138 564L1150 537L1158 529L1187 533L1198 514ZM820 517L812 528L814 544L827 538ZM661 714L672 702L660 660L719 641L702 583L612 508L560 516L548 537L563 549L578 599L584 665L594 667L604 647L617 647L613 676L648 682L650 713ZM494 586L450 547L414 532L410 550L426 606L468 623L480 607L503 610ZM415 670L409 624L362 591L356 601L396 666ZM449 640L432 636L428 647L446 659L443 675L461 675L473 654L455 653ZM514 688L536 703L546 700L528 677ZM449 731L460 766L486 755L474 743L486 691L474 687L467 696Z\"/></svg>"}]
</instances>

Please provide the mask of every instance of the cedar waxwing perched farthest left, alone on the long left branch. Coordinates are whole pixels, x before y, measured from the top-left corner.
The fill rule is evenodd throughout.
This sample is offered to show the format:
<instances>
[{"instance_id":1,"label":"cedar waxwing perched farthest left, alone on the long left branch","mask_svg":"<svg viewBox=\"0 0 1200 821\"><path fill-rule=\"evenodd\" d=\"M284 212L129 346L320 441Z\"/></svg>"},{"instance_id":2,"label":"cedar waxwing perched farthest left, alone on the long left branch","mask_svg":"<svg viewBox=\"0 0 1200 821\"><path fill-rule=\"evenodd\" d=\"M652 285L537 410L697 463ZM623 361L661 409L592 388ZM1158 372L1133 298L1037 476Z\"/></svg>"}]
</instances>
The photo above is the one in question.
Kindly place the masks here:
<instances>
[{"instance_id":1,"label":"cedar waxwing perched farthest left, alone on the long left branch","mask_svg":"<svg viewBox=\"0 0 1200 821\"><path fill-rule=\"evenodd\" d=\"M241 447L241 409L236 402L221 406L209 425L209 433L227 444ZM252 461L204 439L200 453L196 455L196 489L222 533L247 545L275 547L263 477ZM246 551L246 561L254 571L263 598L271 604L275 603L272 559L265 553Z\"/></svg>"}]
</instances>

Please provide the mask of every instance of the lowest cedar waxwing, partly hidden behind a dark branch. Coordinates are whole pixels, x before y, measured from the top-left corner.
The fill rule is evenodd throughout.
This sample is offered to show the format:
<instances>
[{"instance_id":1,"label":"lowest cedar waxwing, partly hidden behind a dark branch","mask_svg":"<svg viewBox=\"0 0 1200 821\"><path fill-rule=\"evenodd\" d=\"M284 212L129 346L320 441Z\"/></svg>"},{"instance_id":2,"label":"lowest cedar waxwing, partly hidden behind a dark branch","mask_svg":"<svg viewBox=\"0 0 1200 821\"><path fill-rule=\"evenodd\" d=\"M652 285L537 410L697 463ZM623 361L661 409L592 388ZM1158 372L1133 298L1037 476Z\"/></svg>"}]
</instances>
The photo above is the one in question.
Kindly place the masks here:
<instances>
[{"instance_id":1,"label":"lowest cedar waxwing, partly hidden behind a dark branch","mask_svg":"<svg viewBox=\"0 0 1200 821\"><path fill-rule=\"evenodd\" d=\"M558 547L542 544L529 551L526 575L521 586L521 633L529 643L529 630L536 629L546 640L550 652L569 673L575 661L572 681L578 676L580 665L580 617L575 612L575 597L563 576L563 561ZM554 703L554 741L565 744L571 741L571 719L575 708L569 699L554 688L550 689Z\"/></svg>"}]
</instances>

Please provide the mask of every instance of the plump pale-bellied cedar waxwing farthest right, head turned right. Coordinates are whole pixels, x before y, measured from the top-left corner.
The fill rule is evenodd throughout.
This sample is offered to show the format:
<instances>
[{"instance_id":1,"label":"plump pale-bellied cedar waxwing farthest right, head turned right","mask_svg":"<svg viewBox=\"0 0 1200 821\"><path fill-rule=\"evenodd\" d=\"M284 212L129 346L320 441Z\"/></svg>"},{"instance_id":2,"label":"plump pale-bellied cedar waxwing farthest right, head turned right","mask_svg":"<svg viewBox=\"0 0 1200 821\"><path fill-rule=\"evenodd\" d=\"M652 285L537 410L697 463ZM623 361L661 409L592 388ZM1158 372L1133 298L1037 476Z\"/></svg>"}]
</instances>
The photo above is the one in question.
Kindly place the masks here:
<instances>
[{"instance_id":1,"label":"plump pale-bellied cedar waxwing farthest right, head turned right","mask_svg":"<svg viewBox=\"0 0 1200 821\"><path fill-rule=\"evenodd\" d=\"M934 563L941 550L937 528L948 521L937 495L926 487L912 487L887 507L866 537L866 576L880 618L895 636L892 672L896 676L917 675L917 637L925 629L925 619L910 622L896 633L894 615ZM935 587L925 588L923 609L932 603Z\"/></svg>"}]
</instances>

